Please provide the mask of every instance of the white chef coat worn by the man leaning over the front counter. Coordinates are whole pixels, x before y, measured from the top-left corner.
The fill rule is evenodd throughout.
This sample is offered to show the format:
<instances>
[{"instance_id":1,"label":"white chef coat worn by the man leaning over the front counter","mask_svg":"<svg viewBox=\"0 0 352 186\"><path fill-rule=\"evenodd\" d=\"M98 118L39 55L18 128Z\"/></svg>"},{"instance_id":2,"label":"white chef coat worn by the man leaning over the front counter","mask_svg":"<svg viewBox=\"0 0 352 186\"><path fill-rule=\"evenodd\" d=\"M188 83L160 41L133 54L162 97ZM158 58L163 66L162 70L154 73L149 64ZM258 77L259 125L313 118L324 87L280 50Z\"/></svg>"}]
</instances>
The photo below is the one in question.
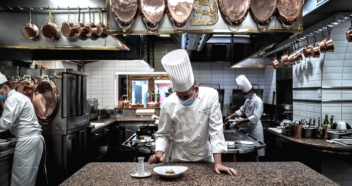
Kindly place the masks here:
<instances>
[{"instance_id":1,"label":"white chef coat worn by the man leaning over the front counter","mask_svg":"<svg viewBox=\"0 0 352 186\"><path fill-rule=\"evenodd\" d=\"M165 162L214 161L213 153L227 152L222 124L214 88L200 86L195 102L188 107L171 94L162 102L155 151L164 152Z\"/></svg>"}]
</instances>

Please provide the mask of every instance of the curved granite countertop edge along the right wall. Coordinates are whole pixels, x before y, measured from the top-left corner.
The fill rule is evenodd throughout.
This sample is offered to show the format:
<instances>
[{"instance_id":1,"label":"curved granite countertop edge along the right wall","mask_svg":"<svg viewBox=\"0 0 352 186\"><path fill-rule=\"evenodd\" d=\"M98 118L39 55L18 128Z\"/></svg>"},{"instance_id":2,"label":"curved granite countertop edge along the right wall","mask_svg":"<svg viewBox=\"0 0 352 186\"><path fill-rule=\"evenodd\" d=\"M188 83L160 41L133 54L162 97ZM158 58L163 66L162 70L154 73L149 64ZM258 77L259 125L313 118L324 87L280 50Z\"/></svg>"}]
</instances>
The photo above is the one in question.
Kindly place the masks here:
<instances>
[{"instance_id":1,"label":"curved granite countertop edge along the right wall","mask_svg":"<svg viewBox=\"0 0 352 186\"><path fill-rule=\"evenodd\" d=\"M278 137L285 139L289 142L293 142L300 145L305 145L309 147L314 147L319 150L329 150L335 152L352 152L352 147L346 147L336 143L328 143L324 139L317 139L317 138L293 138L290 136L285 136L282 134L278 134L274 131L268 130L268 132L277 135Z\"/></svg>"}]
</instances>

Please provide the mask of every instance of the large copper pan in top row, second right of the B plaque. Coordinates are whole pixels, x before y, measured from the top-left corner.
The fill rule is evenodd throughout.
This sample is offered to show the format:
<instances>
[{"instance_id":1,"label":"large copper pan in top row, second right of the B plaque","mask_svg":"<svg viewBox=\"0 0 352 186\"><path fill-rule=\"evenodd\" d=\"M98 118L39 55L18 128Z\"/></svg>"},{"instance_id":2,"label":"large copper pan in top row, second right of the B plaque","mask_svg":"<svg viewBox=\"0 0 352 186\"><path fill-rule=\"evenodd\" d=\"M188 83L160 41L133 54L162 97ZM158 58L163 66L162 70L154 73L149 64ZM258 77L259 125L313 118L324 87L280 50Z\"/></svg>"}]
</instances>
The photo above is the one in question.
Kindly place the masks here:
<instances>
[{"instance_id":1,"label":"large copper pan in top row, second right of the B plaque","mask_svg":"<svg viewBox=\"0 0 352 186\"><path fill-rule=\"evenodd\" d=\"M250 13L257 23L259 29L270 26L278 7L278 0L251 0Z\"/></svg>"}]
</instances>

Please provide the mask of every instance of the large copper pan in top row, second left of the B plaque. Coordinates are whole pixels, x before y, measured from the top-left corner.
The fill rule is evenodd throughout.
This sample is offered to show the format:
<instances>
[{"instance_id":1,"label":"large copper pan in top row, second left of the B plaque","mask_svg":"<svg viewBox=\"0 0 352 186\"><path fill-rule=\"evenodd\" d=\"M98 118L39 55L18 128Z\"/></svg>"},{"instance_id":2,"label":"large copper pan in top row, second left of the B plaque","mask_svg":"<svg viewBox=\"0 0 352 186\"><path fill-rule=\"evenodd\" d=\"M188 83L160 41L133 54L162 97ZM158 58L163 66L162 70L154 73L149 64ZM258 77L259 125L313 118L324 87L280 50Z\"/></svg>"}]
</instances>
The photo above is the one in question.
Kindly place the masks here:
<instances>
[{"instance_id":1,"label":"large copper pan in top row, second left of the B plaque","mask_svg":"<svg viewBox=\"0 0 352 186\"><path fill-rule=\"evenodd\" d=\"M145 26L149 30L157 30L165 12L164 0L137 0L138 10ZM155 28L152 28L155 27Z\"/></svg>"}]
</instances>

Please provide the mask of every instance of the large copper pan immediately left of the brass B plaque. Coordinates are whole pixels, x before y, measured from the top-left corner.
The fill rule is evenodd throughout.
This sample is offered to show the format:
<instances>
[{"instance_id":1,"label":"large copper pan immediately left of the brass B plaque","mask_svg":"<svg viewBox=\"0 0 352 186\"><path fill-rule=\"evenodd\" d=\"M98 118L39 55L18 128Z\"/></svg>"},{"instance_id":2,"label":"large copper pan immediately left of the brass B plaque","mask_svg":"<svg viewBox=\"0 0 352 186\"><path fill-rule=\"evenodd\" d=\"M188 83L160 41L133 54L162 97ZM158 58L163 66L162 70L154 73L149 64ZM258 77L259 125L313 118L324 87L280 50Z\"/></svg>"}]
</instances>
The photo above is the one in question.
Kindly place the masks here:
<instances>
[{"instance_id":1,"label":"large copper pan immediately left of the brass B plaque","mask_svg":"<svg viewBox=\"0 0 352 186\"><path fill-rule=\"evenodd\" d=\"M184 29L193 11L194 0L165 0L165 9L173 27Z\"/></svg>"}]
</instances>

